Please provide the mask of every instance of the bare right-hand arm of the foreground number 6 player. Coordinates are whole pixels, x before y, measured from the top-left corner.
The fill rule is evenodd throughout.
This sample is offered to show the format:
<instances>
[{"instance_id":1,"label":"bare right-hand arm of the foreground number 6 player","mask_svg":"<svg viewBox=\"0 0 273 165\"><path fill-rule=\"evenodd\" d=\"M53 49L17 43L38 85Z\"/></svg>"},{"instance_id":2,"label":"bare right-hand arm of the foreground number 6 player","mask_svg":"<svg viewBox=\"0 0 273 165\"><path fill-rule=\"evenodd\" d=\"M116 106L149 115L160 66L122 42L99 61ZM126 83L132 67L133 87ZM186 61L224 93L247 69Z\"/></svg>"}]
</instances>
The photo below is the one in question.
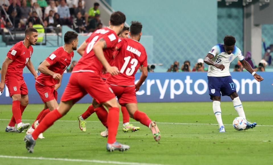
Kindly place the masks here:
<instances>
[{"instance_id":1,"label":"bare right-hand arm of the foreground number 6 player","mask_svg":"<svg viewBox=\"0 0 273 165\"><path fill-rule=\"evenodd\" d=\"M101 62L101 64L103 65L103 67L106 69L108 73L110 73L111 75L118 75L118 73L120 73L118 68L115 66L110 66L110 64L107 62L106 58L104 57L104 54L103 54L104 48L107 48L107 45L106 45L106 41L102 38L95 43L95 45L93 46L93 51L95 55L97 56L98 60Z\"/></svg>"}]
</instances>

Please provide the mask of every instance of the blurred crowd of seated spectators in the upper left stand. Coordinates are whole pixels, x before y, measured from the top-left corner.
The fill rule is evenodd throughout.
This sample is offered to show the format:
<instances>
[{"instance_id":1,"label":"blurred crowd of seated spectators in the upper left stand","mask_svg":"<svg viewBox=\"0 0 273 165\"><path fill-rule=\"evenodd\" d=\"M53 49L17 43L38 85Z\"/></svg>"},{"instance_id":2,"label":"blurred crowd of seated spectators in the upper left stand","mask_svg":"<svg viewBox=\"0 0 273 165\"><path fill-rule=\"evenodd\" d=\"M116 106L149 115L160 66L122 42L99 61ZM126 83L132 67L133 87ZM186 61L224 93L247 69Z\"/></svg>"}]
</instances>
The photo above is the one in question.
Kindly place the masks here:
<instances>
[{"instance_id":1,"label":"blurred crowd of seated spectators in the upper left stand","mask_svg":"<svg viewBox=\"0 0 273 165\"><path fill-rule=\"evenodd\" d=\"M1 28L54 27L67 25L78 33L102 28L99 3L85 12L86 0L0 0ZM5 14L7 13L7 15ZM36 26L41 25L41 26Z\"/></svg>"}]
</instances>

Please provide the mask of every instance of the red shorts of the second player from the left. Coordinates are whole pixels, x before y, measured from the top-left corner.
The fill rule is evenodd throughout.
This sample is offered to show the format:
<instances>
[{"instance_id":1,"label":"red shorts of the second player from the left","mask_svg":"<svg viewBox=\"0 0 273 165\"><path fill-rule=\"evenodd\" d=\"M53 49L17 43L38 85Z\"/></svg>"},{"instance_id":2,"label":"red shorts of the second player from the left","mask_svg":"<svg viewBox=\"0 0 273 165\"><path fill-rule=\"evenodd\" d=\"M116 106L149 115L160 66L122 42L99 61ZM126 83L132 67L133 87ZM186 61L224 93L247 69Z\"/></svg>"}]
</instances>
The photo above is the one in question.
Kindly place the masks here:
<instances>
[{"instance_id":1,"label":"red shorts of the second player from the left","mask_svg":"<svg viewBox=\"0 0 273 165\"><path fill-rule=\"evenodd\" d=\"M57 90L54 90L54 88L55 88L54 86L53 87L44 86L44 85L39 84L36 81L35 88L44 103L54 100L54 99L57 101L58 92L57 92Z\"/></svg>"}]
</instances>

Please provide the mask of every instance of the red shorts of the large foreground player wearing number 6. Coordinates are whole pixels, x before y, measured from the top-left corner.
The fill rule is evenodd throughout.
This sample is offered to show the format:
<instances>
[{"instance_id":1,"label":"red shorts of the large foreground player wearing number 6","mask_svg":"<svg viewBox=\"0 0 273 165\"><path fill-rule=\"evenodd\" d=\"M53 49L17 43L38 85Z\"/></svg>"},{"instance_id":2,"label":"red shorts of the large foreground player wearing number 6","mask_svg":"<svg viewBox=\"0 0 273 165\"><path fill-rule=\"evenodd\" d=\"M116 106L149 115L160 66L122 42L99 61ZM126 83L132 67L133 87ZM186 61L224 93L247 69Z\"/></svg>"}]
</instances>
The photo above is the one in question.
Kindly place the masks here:
<instances>
[{"instance_id":1,"label":"red shorts of the large foreground player wearing number 6","mask_svg":"<svg viewBox=\"0 0 273 165\"><path fill-rule=\"evenodd\" d=\"M105 103L115 98L112 89L100 78L100 75L92 72L77 72L71 74L61 101L73 100L73 103L76 103L87 93L98 103Z\"/></svg>"}]
</instances>

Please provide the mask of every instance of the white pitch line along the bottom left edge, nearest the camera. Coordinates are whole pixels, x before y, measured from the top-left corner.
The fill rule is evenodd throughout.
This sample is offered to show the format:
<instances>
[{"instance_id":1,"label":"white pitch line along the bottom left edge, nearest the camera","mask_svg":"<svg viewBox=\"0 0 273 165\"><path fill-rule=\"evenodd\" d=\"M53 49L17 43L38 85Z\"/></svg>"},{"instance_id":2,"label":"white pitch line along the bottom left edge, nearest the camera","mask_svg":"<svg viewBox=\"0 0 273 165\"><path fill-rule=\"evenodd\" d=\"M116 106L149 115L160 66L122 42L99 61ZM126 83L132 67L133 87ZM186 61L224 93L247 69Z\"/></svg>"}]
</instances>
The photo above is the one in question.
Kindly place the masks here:
<instances>
[{"instance_id":1,"label":"white pitch line along the bottom left edge, nearest the camera","mask_svg":"<svg viewBox=\"0 0 273 165\"><path fill-rule=\"evenodd\" d=\"M162 165L162 164L149 164L149 163L137 163L137 162L117 162L117 161L104 161L104 160L67 159L67 158L44 158L44 157L7 156L7 155L0 155L0 158L58 160L58 161L68 161L68 162L91 162L91 163L104 163L104 164Z\"/></svg>"}]
</instances>

